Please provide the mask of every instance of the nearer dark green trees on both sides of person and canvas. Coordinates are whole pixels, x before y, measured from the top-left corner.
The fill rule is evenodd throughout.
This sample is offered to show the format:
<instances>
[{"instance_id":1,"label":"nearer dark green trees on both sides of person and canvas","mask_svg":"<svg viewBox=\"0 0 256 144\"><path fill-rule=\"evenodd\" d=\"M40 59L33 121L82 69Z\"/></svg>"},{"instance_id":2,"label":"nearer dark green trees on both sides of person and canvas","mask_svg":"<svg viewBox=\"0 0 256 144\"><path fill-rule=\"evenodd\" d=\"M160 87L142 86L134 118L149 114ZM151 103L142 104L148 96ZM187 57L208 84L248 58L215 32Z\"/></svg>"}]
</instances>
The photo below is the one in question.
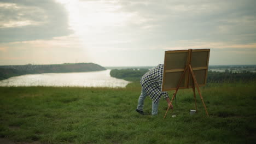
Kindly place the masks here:
<instances>
[{"instance_id":1,"label":"nearer dark green trees on both sides of person and canvas","mask_svg":"<svg viewBox=\"0 0 256 144\"><path fill-rule=\"evenodd\" d=\"M148 69L113 69L110 76L127 81L139 81L147 73ZM232 73L229 70L223 72L208 71L207 82L250 82L256 80L256 73L243 71L242 73Z\"/></svg>"}]
</instances>

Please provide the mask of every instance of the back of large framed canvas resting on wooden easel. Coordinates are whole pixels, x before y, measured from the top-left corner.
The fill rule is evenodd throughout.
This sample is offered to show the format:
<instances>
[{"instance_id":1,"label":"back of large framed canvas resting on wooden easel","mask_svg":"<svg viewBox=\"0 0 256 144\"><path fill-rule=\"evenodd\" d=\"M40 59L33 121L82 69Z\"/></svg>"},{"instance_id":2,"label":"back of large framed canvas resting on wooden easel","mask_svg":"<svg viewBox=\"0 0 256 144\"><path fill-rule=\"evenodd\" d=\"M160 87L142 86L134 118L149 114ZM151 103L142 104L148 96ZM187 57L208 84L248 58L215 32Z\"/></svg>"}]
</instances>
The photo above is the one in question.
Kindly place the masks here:
<instances>
[{"instance_id":1,"label":"back of large framed canvas resting on wooden easel","mask_svg":"<svg viewBox=\"0 0 256 144\"><path fill-rule=\"evenodd\" d=\"M206 85L210 49L165 51L162 91L177 88L187 64L190 64L199 86ZM179 88L191 88L193 81L187 70Z\"/></svg>"}]
</instances>

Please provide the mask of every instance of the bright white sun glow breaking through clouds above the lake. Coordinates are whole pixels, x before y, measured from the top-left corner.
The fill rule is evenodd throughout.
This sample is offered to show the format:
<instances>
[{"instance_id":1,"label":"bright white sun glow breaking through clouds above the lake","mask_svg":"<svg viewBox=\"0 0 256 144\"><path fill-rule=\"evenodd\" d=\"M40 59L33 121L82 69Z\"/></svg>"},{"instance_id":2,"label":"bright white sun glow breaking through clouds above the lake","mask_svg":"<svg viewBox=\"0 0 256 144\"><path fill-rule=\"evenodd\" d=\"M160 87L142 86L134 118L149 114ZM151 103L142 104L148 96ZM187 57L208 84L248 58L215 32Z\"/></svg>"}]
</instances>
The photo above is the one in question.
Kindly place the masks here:
<instances>
[{"instance_id":1,"label":"bright white sun glow breaking through clouds above the lake","mask_svg":"<svg viewBox=\"0 0 256 144\"><path fill-rule=\"evenodd\" d=\"M78 35L91 61L102 63L102 59L97 58L99 55L104 56L109 50L125 50L124 47L114 48L113 44L131 42L130 35L121 35L120 31L124 31L127 23L132 20L139 20L139 16L136 13L121 11L121 5L117 2L61 0L58 2L65 5L69 15L69 26Z\"/></svg>"}]
</instances>

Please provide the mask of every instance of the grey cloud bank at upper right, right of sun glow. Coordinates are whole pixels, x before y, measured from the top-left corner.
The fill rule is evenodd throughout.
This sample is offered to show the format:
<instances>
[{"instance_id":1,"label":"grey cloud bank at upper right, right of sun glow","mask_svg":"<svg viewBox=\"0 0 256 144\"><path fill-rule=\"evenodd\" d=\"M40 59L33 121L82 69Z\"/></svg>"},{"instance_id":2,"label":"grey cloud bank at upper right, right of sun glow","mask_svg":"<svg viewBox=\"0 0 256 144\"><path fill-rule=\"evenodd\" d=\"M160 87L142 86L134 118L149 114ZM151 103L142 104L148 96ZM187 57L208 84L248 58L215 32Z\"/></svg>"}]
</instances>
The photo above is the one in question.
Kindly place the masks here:
<instances>
[{"instance_id":1,"label":"grey cloud bank at upper right, right of sun glow","mask_svg":"<svg viewBox=\"0 0 256 144\"><path fill-rule=\"evenodd\" d=\"M145 19L136 30L152 26L145 39L168 43L176 40L256 40L255 1L121 1L122 9ZM134 24L134 23L133 23ZM154 27L153 27L154 26ZM150 30L150 31L149 31ZM154 34L150 32L154 32Z\"/></svg>"}]
</instances>

